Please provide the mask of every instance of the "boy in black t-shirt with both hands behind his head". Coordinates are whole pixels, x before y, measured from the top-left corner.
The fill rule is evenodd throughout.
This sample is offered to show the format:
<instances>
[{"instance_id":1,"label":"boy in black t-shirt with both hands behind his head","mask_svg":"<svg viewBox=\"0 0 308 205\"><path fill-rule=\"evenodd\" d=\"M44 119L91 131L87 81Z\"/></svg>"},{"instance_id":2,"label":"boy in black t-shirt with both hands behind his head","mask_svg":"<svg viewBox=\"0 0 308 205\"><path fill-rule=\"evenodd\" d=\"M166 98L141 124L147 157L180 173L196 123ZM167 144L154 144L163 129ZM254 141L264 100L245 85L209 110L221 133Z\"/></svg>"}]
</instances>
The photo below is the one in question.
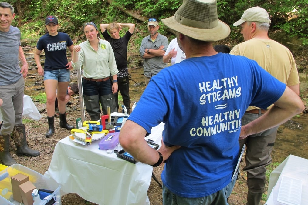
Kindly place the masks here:
<instances>
[{"instance_id":1,"label":"boy in black t-shirt with both hands behind his head","mask_svg":"<svg viewBox=\"0 0 308 205\"><path fill-rule=\"evenodd\" d=\"M119 31L123 27L128 27L128 31L123 37L120 37ZM128 78L128 67L127 67L127 46L128 41L131 38L135 29L135 24L133 23L110 23L100 24L100 30L106 41L111 44L113 53L115 55L115 63L119 70L117 75L118 79L113 80L113 82L118 83L118 91L115 93L115 104L117 111L119 111L118 93L120 91L123 104L127 108L127 113L130 114L130 97L129 97L129 78ZM109 34L108 34L108 32Z\"/></svg>"}]
</instances>

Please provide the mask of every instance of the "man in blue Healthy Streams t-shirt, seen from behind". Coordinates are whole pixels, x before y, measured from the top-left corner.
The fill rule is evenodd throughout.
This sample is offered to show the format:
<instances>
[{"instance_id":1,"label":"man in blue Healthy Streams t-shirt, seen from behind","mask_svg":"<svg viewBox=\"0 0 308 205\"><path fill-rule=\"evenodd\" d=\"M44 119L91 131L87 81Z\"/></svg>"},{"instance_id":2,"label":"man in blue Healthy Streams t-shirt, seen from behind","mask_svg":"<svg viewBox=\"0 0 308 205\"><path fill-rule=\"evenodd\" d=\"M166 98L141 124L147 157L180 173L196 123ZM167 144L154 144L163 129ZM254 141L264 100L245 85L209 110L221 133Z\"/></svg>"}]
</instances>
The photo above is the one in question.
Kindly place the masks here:
<instances>
[{"instance_id":1,"label":"man in blue Healthy Streams t-shirt, seen from behind","mask_svg":"<svg viewBox=\"0 0 308 205\"><path fill-rule=\"evenodd\" d=\"M210 2L210 3L209 3ZM136 160L163 164L163 204L228 204L238 161L238 139L277 126L301 112L301 99L246 57L217 53L213 42L230 28L218 20L216 1L185 0L162 19L175 30L187 59L153 76L120 132ZM242 126L249 105L274 107ZM144 136L164 122L158 151Z\"/></svg>"}]
</instances>

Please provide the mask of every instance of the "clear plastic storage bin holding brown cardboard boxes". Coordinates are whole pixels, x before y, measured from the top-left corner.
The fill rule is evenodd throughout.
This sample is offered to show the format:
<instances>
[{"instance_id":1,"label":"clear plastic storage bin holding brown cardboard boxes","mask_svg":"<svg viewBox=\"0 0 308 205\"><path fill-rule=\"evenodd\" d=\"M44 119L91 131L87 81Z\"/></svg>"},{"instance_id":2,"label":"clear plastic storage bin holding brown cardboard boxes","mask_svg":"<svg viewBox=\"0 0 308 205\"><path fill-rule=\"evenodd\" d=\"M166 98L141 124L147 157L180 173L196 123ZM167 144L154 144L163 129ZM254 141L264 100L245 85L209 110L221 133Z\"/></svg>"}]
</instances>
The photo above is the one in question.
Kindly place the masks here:
<instances>
[{"instance_id":1,"label":"clear plastic storage bin holding brown cardboard boxes","mask_svg":"<svg viewBox=\"0 0 308 205\"><path fill-rule=\"evenodd\" d=\"M51 183L48 183L48 179L36 171L33 171L21 164L13 164L10 167L7 167L0 172L0 204L1 205L18 205L20 202L17 202L13 199L12 185L11 185L11 176L14 176L18 173L29 176L30 181L34 184L37 189L49 189L54 190L53 197L61 205L61 195L60 188L52 186Z\"/></svg>"}]
</instances>

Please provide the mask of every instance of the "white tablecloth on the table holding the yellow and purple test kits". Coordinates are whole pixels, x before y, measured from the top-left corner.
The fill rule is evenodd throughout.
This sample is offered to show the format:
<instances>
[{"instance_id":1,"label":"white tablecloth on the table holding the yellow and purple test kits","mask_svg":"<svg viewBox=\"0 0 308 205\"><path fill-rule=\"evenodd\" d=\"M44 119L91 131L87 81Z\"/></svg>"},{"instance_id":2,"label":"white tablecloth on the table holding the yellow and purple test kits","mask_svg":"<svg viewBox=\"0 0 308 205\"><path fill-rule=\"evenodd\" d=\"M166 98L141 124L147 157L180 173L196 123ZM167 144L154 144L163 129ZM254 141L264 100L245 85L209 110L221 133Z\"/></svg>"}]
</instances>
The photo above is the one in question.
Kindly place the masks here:
<instances>
[{"instance_id":1,"label":"white tablecloth on the table holding the yellow and purple test kits","mask_svg":"<svg viewBox=\"0 0 308 205\"><path fill-rule=\"evenodd\" d=\"M156 143L161 140L163 126L161 123L151 131ZM153 168L140 162L127 162L114 153L107 154L99 149L99 141L83 146L68 137L60 140L44 177L60 184L62 195L77 193L93 203L149 204L147 191Z\"/></svg>"}]
</instances>

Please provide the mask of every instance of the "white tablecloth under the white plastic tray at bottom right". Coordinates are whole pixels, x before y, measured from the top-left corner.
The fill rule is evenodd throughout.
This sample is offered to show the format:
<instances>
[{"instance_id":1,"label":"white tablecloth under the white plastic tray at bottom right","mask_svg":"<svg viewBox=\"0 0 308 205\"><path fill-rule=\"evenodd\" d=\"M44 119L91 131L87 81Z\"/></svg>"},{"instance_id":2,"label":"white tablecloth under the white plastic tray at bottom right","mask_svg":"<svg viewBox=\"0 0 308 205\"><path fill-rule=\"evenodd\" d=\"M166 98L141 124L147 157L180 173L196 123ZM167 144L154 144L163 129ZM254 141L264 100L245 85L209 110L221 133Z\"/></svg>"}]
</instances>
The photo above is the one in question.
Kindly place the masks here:
<instances>
[{"instance_id":1,"label":"white tablecloth under the white plastic tray at bottom right","mask_svg":"<svg viewBox=\"0 0 308 205\"><path fill-rule=\"evenodd\" d=\"M282 185L282 179L284 184ZM302 186L295 186L295 182L301 181ZM286 183L289 182L289 183ZM281 187L281 185L283 187ZM301 191L299 195L298 191ZM308 204L308 159L289 155L276 169L270 174L269 187L267 191L266 205L280 204ZM294 198L295 197L295 198ZM283 200L281 203L278 199ZM293 203L292 203L293 201ZM294 203L300 201L300 203Z\"/></svg>"}]
</instances>

